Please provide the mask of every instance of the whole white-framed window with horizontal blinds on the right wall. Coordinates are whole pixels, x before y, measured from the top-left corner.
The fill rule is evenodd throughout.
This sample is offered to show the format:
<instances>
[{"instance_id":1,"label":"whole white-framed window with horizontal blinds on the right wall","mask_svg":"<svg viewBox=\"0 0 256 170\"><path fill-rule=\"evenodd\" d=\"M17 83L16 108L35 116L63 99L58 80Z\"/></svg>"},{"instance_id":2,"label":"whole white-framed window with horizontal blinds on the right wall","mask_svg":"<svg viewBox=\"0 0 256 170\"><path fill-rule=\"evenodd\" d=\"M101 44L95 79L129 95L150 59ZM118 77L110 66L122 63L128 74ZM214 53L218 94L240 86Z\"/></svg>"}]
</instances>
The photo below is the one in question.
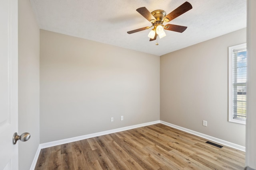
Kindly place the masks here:
<instances>
[{"instance_id":1,"label":"whole white-framed window with horizontal blinds on the right wall","mask_svg":"<svg viewBox=\"0 0 256 170\"><path fill-rule=\"evenodd\" d=\"M228 47L228 121L246 123L246 43Z\"/></svg>"}]
</instances>

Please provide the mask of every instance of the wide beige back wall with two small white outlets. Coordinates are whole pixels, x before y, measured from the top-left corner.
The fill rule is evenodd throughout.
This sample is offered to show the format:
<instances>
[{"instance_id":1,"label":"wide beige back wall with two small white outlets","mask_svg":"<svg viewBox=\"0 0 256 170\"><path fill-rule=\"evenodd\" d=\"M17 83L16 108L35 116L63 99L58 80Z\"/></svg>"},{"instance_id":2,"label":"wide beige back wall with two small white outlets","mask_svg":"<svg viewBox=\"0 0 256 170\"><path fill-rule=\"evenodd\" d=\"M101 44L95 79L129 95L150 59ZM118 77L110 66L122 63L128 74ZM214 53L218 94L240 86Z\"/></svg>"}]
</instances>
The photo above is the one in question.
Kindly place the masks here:
<instances>
[{"instance_id":1,"label":"wide beige back wall with two small white outlets","mask_svg":"<svg viewBox=\"0 0 256 170\"><path fill-rule=\"evenodd\" d=\"M159 62L40 30L40 143L159 120Z\"/></svg>"}]
</instances>

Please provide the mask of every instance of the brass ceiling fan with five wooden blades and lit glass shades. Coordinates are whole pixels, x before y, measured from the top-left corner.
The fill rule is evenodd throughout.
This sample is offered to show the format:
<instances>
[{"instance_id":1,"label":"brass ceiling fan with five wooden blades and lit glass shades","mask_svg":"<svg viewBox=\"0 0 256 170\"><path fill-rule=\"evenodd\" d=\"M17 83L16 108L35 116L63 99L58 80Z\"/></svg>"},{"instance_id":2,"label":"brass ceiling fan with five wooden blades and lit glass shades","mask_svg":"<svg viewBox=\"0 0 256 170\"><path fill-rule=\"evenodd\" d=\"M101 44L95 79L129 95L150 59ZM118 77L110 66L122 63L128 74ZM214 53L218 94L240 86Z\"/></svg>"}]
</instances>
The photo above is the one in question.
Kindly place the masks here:
<instances>
[{"instance_id":1,"label":"brass ceiling fan with five wooden blades and lit glass shades","mask_svg":"<svg viewBox=\"0 0 256 170\"><path fill-rule=\"evenodd\" d=\"M150 37L149 41L156 40L157 36L159 36L159 38L165 37L166 33L164 32L164 29L182 33L187 29L187 27L173 24L163 25L163 23L169 22L191 9L192 5L189 2L185 2L168 15L166 15L166 12L164 10L155 10L153 12L149 12L146 7L138 8L136 11L138 11L138 13L140 13L142 16L144 16L144 18L150 21L152 23L152 26L134 29L132 31L128 31L127 33L132 34L153 27L153 29L148 34L148 37ZM156 45L158 45L158 43L156 43Z\"/></svg>"}]
</instances>

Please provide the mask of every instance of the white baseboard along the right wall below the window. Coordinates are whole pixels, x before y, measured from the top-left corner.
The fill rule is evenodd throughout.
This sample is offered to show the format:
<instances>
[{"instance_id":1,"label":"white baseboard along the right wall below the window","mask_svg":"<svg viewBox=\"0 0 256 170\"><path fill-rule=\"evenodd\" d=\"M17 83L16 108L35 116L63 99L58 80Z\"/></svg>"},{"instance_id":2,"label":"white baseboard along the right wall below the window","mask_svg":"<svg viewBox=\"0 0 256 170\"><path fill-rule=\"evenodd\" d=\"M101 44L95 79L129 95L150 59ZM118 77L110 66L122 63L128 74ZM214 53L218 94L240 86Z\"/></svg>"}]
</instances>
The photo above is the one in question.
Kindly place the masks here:
<instances>
[{"instance_id":1,"label":"white baseboard along the right wall below the window","mask_svg":"<svg viewBox=\"0 0 256 170\"><path fill-rule=\"evenodd\" d=\"M180 126L177 126L177 125L173 125L171 123L168 123L168 122L165 122L165 121L160 121L160 123L164 124L164 125L167 125L167 126L170 126L170 127L173 127L175 129L179 129L181 131L184 131L184 132L187 132L187 133L190 133L190 134L193 134L193 135L196 135L196 136L199 136L199 137L202 137L202 138L205 138L205 139L208 139L210 141L213 141L213 142L216 142L216 143L220 143L222 145L226 145L228 147L231 147L231 148L234 148L234 149L237 149L237 150L242 150L245 152L245 147L241 146L241 145L237 145L235 143L231 143L231 142L228 142L228 141L224 141L222 139L218 139L216 137L212 137L212 136L209 136L209 135L205 135L203 133L199 133L199 132L196 132L196 131L192 131L190 129L186 129L184 127L180 127Z\"/></svg>"}]
</instances>

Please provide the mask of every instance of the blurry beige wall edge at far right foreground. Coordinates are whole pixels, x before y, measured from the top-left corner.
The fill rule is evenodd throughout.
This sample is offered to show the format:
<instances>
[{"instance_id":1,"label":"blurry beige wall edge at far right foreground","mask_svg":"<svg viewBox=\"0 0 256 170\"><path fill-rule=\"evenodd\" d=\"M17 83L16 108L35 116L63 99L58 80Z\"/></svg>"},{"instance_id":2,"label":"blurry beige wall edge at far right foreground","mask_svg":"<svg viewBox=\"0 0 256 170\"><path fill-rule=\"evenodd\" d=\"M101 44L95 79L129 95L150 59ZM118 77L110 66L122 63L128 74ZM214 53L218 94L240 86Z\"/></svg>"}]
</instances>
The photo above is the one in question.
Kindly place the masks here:
<instances>
[{"instance_id":1,"label":"blurry beige wall edge at far right foreground","mask_svg":"<svg viewBox=\"0 0 256 170\"><path fill-rule=\"evenodd\" d=\"M246 166L256 170L256 1L247 1L247 120L246 120Z\"/></svg>"}]
</instances>

